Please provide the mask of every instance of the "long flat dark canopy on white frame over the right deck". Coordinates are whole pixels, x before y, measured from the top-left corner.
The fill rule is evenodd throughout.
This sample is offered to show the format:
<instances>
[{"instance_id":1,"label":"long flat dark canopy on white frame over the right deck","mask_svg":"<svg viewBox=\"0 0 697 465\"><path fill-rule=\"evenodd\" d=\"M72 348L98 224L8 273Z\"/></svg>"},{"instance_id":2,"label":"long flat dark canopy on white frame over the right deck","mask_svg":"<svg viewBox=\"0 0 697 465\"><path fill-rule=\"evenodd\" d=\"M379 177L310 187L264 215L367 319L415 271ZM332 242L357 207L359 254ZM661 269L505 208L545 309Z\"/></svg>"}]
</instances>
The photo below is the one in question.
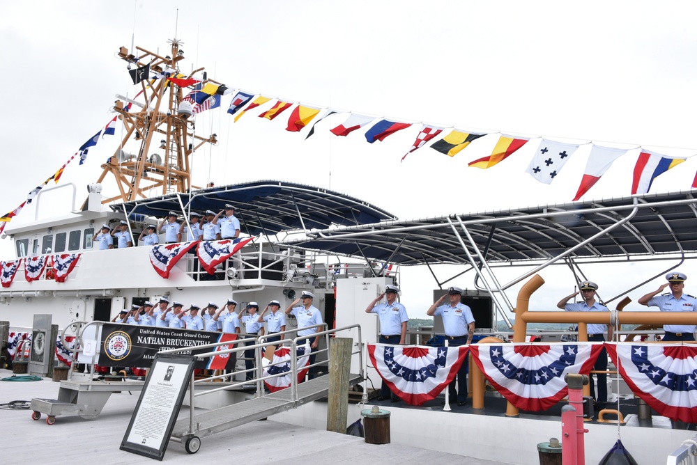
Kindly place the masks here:
<instances>
[{"instance_id":1,"label":"long flat dark canopy on white frame over the right deck","mask_svg":"<svg viewBox=\"0 0 697 465\"><path fill-rule=\"evenodd\" d=\"M694 192L382 221L323 230L284 244L401 265L472 263L480 261L478 252L489 265L545 262L562 253L574 260L694 253Z\"/></svg>"}]
</instances>

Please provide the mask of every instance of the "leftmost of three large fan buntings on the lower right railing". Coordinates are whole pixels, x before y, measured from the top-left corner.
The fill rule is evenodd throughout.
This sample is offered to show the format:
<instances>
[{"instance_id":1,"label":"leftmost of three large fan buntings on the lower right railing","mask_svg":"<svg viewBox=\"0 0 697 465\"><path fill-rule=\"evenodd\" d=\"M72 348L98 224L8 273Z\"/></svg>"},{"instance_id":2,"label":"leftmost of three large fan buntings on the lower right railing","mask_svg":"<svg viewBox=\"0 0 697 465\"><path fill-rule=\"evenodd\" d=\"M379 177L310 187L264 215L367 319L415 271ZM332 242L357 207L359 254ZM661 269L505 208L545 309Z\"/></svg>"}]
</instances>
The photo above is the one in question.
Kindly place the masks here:
<instances>
[{"instance_id":1,"label":"leftmost of three large fan buntings on the lower right railing","mask_svg":"<svg viewBox=\"0 0 697 465\"><path fill-rule=\"evenodd\" d=\"M455 378L467 347L369 344L368 355L392 393L410 405L422 405Z\"/></svg>"}]
</instances>

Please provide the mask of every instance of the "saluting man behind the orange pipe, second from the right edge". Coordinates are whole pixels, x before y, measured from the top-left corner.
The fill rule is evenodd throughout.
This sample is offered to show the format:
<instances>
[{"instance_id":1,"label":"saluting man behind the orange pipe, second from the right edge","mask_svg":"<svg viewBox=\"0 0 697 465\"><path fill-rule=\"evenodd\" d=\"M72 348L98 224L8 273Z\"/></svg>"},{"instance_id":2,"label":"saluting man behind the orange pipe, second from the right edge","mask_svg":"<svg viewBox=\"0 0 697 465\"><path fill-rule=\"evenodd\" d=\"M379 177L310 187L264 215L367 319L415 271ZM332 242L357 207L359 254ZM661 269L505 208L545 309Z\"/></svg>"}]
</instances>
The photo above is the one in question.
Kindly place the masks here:
<instances>
[{"instance_id":1,"label":"saluting man behind the orange pipe, second from the right edge","mask_svg":"<svg viewBox=\"0 0 697 465\"><path fill-rule=\"evenodd\" d=\"M579 292L574 292L573 294L567 295L561 299L557 307L565 310L567 312L609 312L608 308L600 302L595 300L595 292L598 290L598 285L592 281L583 281L579 283ZM574 302L573 304L567 304L569 299L576 297L581 294L583 298L582 302ZM605 329L608 330L608 339L612 340L612 326L599 324L599 323L589 323L586 326L588 331L588 340L591 342L604 342L605 340ZM602 349L598 358L593 365L593 370L607 371L608 369L608 354L605 352L605 348ZM595 396L595 379L593 375L590 375L590 395L596 400L596 407L600 408L606 404L608 401L608 375L604 373L597 373L598 377L598 395Z\"/></svg>"}]
</instances>

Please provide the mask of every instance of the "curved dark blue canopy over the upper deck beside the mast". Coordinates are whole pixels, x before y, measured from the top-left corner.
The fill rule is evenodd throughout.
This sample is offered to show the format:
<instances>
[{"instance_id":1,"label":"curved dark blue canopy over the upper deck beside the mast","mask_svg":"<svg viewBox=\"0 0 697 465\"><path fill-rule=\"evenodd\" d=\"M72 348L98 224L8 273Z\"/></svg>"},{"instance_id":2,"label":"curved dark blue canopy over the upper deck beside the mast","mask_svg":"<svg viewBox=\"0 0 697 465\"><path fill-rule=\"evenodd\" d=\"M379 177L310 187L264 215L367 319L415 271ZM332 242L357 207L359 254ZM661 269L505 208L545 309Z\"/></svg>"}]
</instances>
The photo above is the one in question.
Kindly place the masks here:
<instances>
[{"instance_id":1,"label":"curved dark blue canopy over the upper deck beside the mast","mask_svg":"<svg viewBox=\"0 0 697 465\"><path fill-rule=\"evenodd\" d=\"M282 230L326 229L378 221L396 216L358 198L328 189L274 180L231 184L188 194L133 200L112 205L128 215L167 216L173 212L220 212L226 203L235 207L243 232L275 234Z\"/></svg>"}]
</instances>

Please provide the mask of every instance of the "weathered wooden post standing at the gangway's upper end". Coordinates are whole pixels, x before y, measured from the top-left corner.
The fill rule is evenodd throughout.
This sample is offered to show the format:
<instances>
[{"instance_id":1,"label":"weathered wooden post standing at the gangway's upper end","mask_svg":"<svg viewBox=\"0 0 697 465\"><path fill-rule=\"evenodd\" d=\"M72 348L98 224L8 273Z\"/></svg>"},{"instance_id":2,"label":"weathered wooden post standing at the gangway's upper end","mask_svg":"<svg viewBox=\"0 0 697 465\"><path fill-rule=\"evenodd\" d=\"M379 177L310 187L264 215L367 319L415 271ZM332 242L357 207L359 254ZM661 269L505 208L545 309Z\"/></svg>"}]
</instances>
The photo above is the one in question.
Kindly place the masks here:
<instances>
[{"instance_id":1,"label":"weathered wooden post standing at the gangway's upper end","mask_svg":"<svg viewBox=\"0 0 697 465\"><path fill-rule=\"evenodd\" d=\"M352 338L333 338L329 344L329 397L327 431L346 434L348 420L348 372Z\"/></svg>"}]
</instances>

